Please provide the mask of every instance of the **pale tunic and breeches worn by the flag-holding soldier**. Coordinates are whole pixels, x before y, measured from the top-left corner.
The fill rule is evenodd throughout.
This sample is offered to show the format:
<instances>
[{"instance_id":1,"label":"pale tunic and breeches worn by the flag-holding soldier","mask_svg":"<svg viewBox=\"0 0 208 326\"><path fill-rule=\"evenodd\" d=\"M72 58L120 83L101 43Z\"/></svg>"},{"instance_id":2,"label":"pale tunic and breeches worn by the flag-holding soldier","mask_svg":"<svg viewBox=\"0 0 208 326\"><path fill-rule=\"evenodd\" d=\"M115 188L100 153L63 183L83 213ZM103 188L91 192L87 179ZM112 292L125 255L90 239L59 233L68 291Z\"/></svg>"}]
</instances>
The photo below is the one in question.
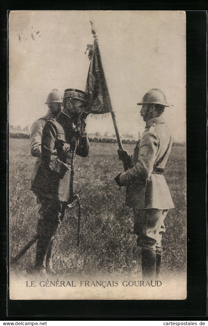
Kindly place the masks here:
<instances>
[{"instance_id":1,"label":"pale tunic and breeches worn by the flag-holding soldier","mask_svg":"<svg viewBox=\"0 0 208 326\"><path fill-rule=\"evenodd\" d=\"M174 208L163 175L171 146L171 132L163 117L149 120L131 156L132 168L120 175L120 184L126 185L126 205L133 207L137 243L156 252L161 251L164 219Z\"/></svg>"}]
</instances>

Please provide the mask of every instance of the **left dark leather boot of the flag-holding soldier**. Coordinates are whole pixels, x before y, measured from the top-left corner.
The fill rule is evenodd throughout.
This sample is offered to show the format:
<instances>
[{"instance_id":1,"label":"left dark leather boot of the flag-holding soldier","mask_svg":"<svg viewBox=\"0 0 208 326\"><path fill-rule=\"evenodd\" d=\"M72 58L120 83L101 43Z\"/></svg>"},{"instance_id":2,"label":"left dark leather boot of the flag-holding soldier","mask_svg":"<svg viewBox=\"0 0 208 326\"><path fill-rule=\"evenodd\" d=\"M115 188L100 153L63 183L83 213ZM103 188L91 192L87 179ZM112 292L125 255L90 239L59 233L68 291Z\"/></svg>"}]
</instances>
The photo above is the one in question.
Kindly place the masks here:
<instances>
[{"instance_id":1,"label":"left dark leather boot of the flag-holding soldier","mask_svg":"<svg viewBox=\"0 0 208 326\"><path fill-rule=\"evenodd\" d=\"M149 249L141 250L142 279L156 279L156 251Z\"/></svg>"}]
</instances>

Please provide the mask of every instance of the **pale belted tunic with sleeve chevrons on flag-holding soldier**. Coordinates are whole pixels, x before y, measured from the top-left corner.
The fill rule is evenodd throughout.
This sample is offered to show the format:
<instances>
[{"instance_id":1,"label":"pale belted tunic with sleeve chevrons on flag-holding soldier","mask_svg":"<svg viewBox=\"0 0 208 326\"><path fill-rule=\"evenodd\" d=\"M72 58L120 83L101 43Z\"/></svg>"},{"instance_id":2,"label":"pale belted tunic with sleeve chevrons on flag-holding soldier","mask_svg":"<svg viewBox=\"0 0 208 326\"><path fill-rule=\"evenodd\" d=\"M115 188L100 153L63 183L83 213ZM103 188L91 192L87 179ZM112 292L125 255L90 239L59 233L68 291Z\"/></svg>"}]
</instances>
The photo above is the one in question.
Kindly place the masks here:
<instances>
[{"instance_id":1,"label":"pale belted tunic with sleeve chevrons on flag-holding soldier","mask_svg":"<svg viewBox=\"0 0 208 326\"><path fill-rule=\"evenodd\" d=\"M132 154L133 167L120 176L121 185L127 185L128 206L160 210L174 208L164 175L158 172L165 169L171 146L171 132L163 117L149 120Z\"/></svg>"}]
</instances>

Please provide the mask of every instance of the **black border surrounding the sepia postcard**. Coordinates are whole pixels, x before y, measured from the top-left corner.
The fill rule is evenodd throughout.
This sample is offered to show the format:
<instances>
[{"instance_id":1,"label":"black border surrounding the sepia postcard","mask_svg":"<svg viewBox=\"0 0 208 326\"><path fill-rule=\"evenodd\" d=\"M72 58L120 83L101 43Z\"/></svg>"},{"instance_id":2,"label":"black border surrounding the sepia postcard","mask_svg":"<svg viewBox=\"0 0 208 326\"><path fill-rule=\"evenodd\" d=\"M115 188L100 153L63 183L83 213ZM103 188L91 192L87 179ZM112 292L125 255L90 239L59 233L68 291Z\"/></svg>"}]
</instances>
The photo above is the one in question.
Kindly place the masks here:
<instances>
[{"instance_id":1,"label":"black border surrounding the sepia postcard","mask_svg":"<svg viewBox=\"0 0 208 326\"><path fill-rule=\"evenodd\" d=\"M182 7L182 6L179 6ZM187 6L186 6L187 7ZM193 7L190 3L189 8ZM196 7L196 6L195 6ZM206 7L206 6L204 6ZM121 4L120 8L107 5L82 9L121 10L130 5ZM18 8L19 9L19 8ZM48 9L33 5L32 9ZM61 6L50 9L61 10ZM64 8L66 10L66 6ZM71 9L77 7L70 6ZM132 8L131 8L132 9ZM147 5L135 6L136 10L150 10ZM15 9L16 10L16 9ZM19 9L20 10L20 9ZM21 8L22 10L22 8ZM30 8L31 10L31 8ZM152 3L151 10L183 10L170 4ZM3 41L3 72L1 80L1 195L5 201L5 144L6 144L6 10L1 11L1 36ZM188 282L186 300L49 300L24 301L9 300L6 302L6 233L5 218L1 219L1 235L3 236L1 262L3 262L2 283L2 316L4 320L207 320L207 237L206 237L206 31L207 12L186 11L187 28L187 238L188 238ZM3 76L3 78L2 78ZM3 98L3 99L2 99ZM3 102L2 102L3 101ZM3 212L3 211L2 211ZM2 239L2 237L1 237ZM6 317L6 305L8 316ZM67 314L66 314L67 313ZM53 316L53 317L52 317ZM28 318L29 317L29 318ZM200 318L199 318L200 317Z\"/></svg>"}]
</instances>

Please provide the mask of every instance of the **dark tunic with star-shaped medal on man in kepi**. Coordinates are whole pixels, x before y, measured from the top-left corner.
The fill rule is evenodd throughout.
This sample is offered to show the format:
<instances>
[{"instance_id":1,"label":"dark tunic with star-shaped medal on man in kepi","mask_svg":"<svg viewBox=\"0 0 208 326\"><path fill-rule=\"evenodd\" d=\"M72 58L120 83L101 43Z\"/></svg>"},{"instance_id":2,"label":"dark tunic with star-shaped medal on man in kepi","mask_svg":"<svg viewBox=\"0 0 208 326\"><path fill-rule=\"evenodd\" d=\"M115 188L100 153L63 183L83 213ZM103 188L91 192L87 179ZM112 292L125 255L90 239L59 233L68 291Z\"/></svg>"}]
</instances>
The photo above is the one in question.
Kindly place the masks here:
<instances>
[{"instance_id":1,"label":"dark tunic with star-shaped medal on man in kepi","mask_svg":"<svg viewBox=\"0 0 208 326\"><path fill-rule=\"evenodd\" d=\"M68 201L73 147L76 148L73 154L87 156L88 137L86 134L77 136L70 117L60 112L56 120L49 119L43 128L42 163L31 187L35 194L62 202ZM57 164L57 169L51 169L53 162Z\"/></svg>"}]
</instances>

